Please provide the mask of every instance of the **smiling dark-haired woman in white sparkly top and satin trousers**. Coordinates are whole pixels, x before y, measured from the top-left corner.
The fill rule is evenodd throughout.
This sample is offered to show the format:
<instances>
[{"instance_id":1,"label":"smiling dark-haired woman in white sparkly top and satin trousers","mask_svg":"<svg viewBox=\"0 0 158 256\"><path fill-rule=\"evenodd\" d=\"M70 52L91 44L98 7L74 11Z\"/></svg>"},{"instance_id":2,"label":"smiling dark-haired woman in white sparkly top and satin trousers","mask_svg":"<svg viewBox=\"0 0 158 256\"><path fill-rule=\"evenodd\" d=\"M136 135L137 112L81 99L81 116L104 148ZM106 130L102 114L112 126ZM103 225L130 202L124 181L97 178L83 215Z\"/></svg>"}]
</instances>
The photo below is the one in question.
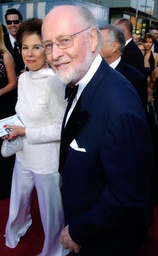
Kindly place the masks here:
<instances>
[{"instance_id":1,"label":"smiling dark-haired woman in white sparkly top and satin trousers","mask_svg":"<svg viewBox=\"0 0 158 256\"><path fill-rule=\"evenodd\" d=\"M40 256L64 256L59 241L64 228L61 178L58 172L61 124L66 102L64 85L40 52L40 19L23 22L18 30L24 64L30 69L19 77L16 113L22 126L6 126L13 131L6 139L20 136L23 149L16 153L6 226L6 246L14 248L32 223L31 193L36 188L45 240ZM4 138L4 137L3 137Z\"/></svg>"}]
</instances>

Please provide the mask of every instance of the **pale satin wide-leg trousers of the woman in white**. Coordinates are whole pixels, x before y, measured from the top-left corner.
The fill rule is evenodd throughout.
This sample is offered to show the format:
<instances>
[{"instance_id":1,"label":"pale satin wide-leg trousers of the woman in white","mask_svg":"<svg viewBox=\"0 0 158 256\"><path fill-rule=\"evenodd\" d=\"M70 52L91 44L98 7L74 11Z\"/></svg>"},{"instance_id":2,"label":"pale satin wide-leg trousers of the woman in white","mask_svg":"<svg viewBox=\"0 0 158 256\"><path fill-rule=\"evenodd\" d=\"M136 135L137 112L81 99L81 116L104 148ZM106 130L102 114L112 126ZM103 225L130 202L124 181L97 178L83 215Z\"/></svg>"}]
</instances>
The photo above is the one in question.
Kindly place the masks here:
<instances>
[{"instance_id":1,"label":"pale satin wide-leg trousers of the woman in white","mask_svg":"<svg viewBox=\"0 0 158 256\"><path fill-rule=\"evenodd\" d=\"M9 219L6 225L6 246L14 248L32 223L30 207L34 185L38 194L45 240L39 256L65 256L59 238L64 228L60 174L35 174L15 160L11 185Z\"/></svg>"}]
</instances>

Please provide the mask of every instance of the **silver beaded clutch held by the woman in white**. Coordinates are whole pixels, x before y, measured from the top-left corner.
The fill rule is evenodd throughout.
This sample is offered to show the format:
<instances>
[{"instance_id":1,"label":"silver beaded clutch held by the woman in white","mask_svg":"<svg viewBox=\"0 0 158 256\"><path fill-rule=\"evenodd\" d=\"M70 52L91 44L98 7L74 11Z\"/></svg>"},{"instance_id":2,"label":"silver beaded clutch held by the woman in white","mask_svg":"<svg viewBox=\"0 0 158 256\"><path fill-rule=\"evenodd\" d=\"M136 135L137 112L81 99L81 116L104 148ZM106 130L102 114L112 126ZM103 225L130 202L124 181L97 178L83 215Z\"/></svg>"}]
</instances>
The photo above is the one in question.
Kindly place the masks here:
<instances>
[{"instance_id":1,"label":"silver beaded clutch held by the woman in white","mask_svg":"<svg viewBox=\"0 0 158 256\"><path fill-rule=\"evenodd\" d=\"M7 158L8 156L14 155L16 152L22 150L22 147L22 139L20 137L11 139L11 141L7 141L5 139L2 143L1 154Z\"/></svg>"}]
</instances>

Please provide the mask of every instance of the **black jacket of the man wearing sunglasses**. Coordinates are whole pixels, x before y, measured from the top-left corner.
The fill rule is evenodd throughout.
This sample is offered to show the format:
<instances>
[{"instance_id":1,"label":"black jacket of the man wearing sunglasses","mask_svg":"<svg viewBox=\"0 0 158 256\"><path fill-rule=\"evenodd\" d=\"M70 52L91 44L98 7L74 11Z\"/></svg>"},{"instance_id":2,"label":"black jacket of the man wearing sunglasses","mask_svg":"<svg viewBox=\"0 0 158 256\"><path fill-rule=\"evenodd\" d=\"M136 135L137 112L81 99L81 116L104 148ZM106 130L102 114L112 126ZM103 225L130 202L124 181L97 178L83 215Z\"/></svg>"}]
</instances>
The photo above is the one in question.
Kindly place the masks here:
<instances>
[{"instance_id":1,"label":"black jacket of the man wearing sunglasses","mask_svg":"<svg viewBox=\"0 0 158 256\"><path fill-rule=\"evenodd\" d=\"M13 59L14 59L14 62L15 62L16 76L19 76L20 71L22 71L24 69L24 63L23 63L22 55L21 55L21 53L18 52L18 49L16 49L16 50L13 49L8 34L4 36L4 42L5 42L6 48L9 50L9 52L13 56Z\"/></svg>"}]
</instances>

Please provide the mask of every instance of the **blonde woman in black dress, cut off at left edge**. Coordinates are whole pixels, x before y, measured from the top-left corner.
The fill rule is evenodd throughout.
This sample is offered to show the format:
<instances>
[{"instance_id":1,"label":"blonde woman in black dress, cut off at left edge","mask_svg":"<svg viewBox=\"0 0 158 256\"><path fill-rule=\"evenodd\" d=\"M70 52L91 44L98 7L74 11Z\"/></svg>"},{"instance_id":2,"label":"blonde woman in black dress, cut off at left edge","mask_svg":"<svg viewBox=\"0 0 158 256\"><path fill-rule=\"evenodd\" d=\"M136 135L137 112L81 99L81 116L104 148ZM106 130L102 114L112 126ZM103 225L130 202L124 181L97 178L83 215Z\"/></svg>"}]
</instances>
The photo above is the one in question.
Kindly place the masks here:
<instances>
[{"instance_id":1,"label":"blonde woman in black dress, cut off at left edge","mask_svg":"<svg viewBox=\"0 0 158 256\"><path fill-rule=\"evenodd\" d=\"M16 87L16 75L14 60L3 40L3 29L0 24L0 119L9 117L15 114L15 98L13 90ZM2 140L0 140L0 148ZM15 156L10 156L8 159L3 158L0 154L0 164L5 167L1 172L0 181L0 199L5 199L10 196L11 177L13 173Z\"/></svg>"}]
</instances>

